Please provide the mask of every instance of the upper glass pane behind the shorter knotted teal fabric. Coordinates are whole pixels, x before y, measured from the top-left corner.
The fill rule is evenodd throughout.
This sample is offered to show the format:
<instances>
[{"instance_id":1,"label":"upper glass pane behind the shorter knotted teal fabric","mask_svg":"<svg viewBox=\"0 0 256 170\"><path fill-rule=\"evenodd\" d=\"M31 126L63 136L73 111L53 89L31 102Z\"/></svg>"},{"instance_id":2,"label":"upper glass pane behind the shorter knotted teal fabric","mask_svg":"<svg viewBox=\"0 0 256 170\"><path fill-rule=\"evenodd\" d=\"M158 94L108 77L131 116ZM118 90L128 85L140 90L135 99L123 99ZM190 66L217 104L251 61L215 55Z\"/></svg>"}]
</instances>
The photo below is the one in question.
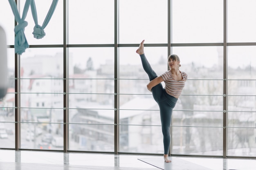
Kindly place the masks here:
<instances>
[{"instance_id":1,"label":"upper glass pane behind the shorter knotted teal fabric","mask_svg":"<svg viewBox=\"0 0 256 170\"><path fill-rule=\"evenodd\" d=\"M20 8L23 12L25 0L20 0ZM52 0L35 0L38 25L42 26L45 17L51 7ZM22 15L22 14L21 14ZM25 21L28 25L25 27L25 36L29 45L34 44L63 44L63 0L59 0L49 23L45 27L45 36L42 39L34 38L32 34L34 31L35 22L33 20L31 10L29 9ZM28 49L26 50L26 52Z\"/></svg>"}]
</instances>

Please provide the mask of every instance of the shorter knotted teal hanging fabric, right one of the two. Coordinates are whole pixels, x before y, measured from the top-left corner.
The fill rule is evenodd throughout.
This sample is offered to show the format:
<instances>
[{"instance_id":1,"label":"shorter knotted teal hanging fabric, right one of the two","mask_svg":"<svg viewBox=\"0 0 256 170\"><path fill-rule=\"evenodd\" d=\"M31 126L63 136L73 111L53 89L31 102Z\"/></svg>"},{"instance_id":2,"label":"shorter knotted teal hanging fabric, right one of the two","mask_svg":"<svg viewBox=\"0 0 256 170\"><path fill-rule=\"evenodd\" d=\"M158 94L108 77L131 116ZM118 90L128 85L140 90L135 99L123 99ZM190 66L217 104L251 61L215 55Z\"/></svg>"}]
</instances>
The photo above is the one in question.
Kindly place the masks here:
<instances>
[{"instance_id":1,"label":"shorter knotted teal hanging fabric, right one of the two","mask_svg":"<svg viewBox=\"0 0 256 170\"><path fill-rule=\"evenodd\" d=\"M53 0L52 1L52 5L51 5L46 17L45 17L45 21L43 22L43 25L40 26L40 25L38 25L35 1L31 0L31 12L32 12L32 16L33 16L33 19L34 19L34 22L35 22L34 31L33 31L34 38L41 39L45 36L44 29L47 26L47 24L49 23L50 19L52 18L52 15L53 15L54 10L57 6L57 3L58 3L58 0Z\"/></svg>"}]
</instances>

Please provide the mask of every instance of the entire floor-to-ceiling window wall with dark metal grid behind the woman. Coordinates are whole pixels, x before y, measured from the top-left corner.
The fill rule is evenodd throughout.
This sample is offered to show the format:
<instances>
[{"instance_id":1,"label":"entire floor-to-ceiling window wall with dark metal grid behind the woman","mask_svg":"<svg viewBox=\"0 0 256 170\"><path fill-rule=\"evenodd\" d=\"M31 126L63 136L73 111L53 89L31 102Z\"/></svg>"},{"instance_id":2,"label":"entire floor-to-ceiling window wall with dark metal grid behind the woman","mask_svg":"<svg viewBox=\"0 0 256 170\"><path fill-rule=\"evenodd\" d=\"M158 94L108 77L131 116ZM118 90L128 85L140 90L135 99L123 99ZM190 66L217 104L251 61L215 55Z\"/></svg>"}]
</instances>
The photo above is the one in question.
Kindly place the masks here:
<instances>
[{"instance_id":1,"label":"entire floor-to-ceiling window wall with dark metal grid behind the woman","mask_svg":"<svg viewBox=\"0 0 256 170\"><path fill-rule=\"evenodd\" d=\"M22 14L25 0L17 0ZM35 0L42 25L52 0ZM253 0L59 0L45 28L14 53L7 34L7 95L0 148L162 154L159 108L139 55L157 75L168 55L188 74L173 110L171 154L256 157L256 13ZM164 85L164 83L163 83ZM17 129L17 131L15 131Z\"/></svg>"}]
</instances>

